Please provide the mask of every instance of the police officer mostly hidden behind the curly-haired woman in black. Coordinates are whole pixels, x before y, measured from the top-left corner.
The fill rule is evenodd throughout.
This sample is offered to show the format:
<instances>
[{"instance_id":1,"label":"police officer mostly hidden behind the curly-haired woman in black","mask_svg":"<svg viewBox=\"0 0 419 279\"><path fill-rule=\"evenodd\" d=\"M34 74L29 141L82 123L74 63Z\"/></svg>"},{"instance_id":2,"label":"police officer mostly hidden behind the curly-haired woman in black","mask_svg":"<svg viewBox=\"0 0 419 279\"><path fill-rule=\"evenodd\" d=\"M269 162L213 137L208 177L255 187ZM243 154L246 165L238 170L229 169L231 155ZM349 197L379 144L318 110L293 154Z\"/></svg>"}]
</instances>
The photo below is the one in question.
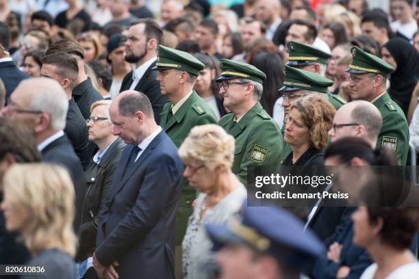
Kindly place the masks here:
<instances>
[{"instance_id":1,"label":"police officer mostly hidden behind the curly-haired woman in black","mask_svg":"<svg viewBox=\"0 0 419 279\"><path fill-rule=\"evenodd\" d=\"M333 85L333 81L316 75L313 72L307 70L300 70L298 68L292 68L290 66L283 66L283 72L285 74L285 80L283 81L283 87L279 88L278 92L283 97L282 106L285 111L285 121L290 113L290 107L293 103L299 101L303 96L309 94L323 94L327 98L327 88ZM285 131L285 124L281 129L281 135L283 138ZM283 150L281 152L280 161L282 162L291 152L291 147L284 142Z\"/></svg>"}]
</instances>

